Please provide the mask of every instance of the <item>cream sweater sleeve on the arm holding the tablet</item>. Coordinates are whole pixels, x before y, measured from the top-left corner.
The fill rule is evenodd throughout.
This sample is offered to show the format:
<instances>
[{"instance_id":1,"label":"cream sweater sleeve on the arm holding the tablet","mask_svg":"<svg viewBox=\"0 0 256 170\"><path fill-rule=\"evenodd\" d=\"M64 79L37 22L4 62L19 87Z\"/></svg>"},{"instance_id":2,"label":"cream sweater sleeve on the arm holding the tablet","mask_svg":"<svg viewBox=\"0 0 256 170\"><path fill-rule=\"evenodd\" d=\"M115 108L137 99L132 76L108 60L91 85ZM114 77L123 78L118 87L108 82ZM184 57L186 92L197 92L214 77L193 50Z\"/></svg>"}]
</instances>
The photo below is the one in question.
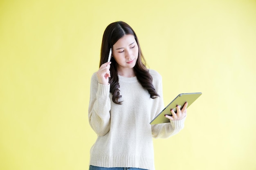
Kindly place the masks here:
<instances>
[{"instance_id":1,"label":"cream sweater sleeve on the arm holding the tablet","mask_svg":"<svg viewBox=\"0 0 256 170\"><path fill-rule=\"evenodd\" d=\"M152 118L158 115L161 112L161 110L163 110L164 108L162 77L161 75L158 75L157 77L155 78L155 82L154 80L153 82L154 82L155 89L157 93L160 95L160 97L159 99L156 100L157 109L156 109L156 112L153 113ZM178 132L180 132L180 130L184 128L185 119L186 117L184 117L182 120L170 121L170 123L151 125L152 136L154 138L168 138L177 134Z\"/></svg>"}]
</instances>

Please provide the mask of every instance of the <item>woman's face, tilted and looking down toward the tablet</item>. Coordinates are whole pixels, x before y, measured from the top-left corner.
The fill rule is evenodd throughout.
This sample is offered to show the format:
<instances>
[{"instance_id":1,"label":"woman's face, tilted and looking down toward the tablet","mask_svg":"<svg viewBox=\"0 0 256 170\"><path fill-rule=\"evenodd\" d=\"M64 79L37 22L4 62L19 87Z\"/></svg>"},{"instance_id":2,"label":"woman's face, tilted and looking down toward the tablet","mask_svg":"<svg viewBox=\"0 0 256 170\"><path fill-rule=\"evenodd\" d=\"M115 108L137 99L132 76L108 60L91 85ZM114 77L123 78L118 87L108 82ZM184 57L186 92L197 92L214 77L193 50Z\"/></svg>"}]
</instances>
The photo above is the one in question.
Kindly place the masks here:
<instances>
[{"instance_id":1,"label":"woman's face, tilted and looking down toward the tablet","mask_svg":"<svg viewBox=\"0 0 256 170\"><path fill-rule=\"evenodd\" d=\"M112 55L118 66L117 71L133 68L139 55L139 47L133 35L124 35L112 48Z\"/></svg>"}]
</instances>

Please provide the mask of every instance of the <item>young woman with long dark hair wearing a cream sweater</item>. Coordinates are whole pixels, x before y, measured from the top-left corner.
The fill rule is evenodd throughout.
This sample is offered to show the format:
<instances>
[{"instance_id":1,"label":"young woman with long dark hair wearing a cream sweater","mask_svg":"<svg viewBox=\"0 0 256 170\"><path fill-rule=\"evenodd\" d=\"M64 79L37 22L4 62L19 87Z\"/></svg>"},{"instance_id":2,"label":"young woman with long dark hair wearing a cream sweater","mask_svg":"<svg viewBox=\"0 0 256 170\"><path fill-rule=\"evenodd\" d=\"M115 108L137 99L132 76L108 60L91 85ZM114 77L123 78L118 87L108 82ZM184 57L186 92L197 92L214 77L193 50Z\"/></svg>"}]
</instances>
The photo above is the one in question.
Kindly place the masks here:
<instances>
[{"instance_id":1,"label":"young woman with long dark hair wearing a cream sweater","mask_svg":"<svg viewBox=\"0 0 256 170\"><path fill-rule=\"evenodd\" d=\"M146 68L133 29L121 21L109 24L103 34L99 71L91 78L88 116L98 137L90 150L90 170L154 170L152 137L179 132L186 106L166 115L170 123L149 124L164 108L162 77Z\"/></svg>"}]
</instances>

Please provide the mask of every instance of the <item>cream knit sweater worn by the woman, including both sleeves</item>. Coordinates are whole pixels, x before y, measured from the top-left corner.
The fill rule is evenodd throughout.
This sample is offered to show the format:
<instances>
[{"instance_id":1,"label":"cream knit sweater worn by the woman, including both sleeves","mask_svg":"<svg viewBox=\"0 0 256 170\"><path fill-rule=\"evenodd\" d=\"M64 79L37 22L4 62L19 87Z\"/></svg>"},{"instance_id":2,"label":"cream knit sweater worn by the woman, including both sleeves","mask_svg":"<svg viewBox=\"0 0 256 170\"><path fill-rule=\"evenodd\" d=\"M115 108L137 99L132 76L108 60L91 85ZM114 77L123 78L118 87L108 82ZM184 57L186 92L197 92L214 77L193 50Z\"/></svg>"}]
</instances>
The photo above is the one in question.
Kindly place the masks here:
<instances>
[{"instance_id":1,"label":"cream knit sweater worn by the woman, including both sleeves","mask_svg":"<svg viewBox=\"0 0 256 170\"><path fill-rule=\"evenodd\" d=\"M149 71L160 97L151 99L137 77L119 76L121 105L112 102L110 85L99 84L96 73L92 75L88 116L98 137L90 150L90 165L155 170L152 137L167 138L184 127L185 118L149 124L164 108L162 77Z\"/></svg>"}]
</instances>

